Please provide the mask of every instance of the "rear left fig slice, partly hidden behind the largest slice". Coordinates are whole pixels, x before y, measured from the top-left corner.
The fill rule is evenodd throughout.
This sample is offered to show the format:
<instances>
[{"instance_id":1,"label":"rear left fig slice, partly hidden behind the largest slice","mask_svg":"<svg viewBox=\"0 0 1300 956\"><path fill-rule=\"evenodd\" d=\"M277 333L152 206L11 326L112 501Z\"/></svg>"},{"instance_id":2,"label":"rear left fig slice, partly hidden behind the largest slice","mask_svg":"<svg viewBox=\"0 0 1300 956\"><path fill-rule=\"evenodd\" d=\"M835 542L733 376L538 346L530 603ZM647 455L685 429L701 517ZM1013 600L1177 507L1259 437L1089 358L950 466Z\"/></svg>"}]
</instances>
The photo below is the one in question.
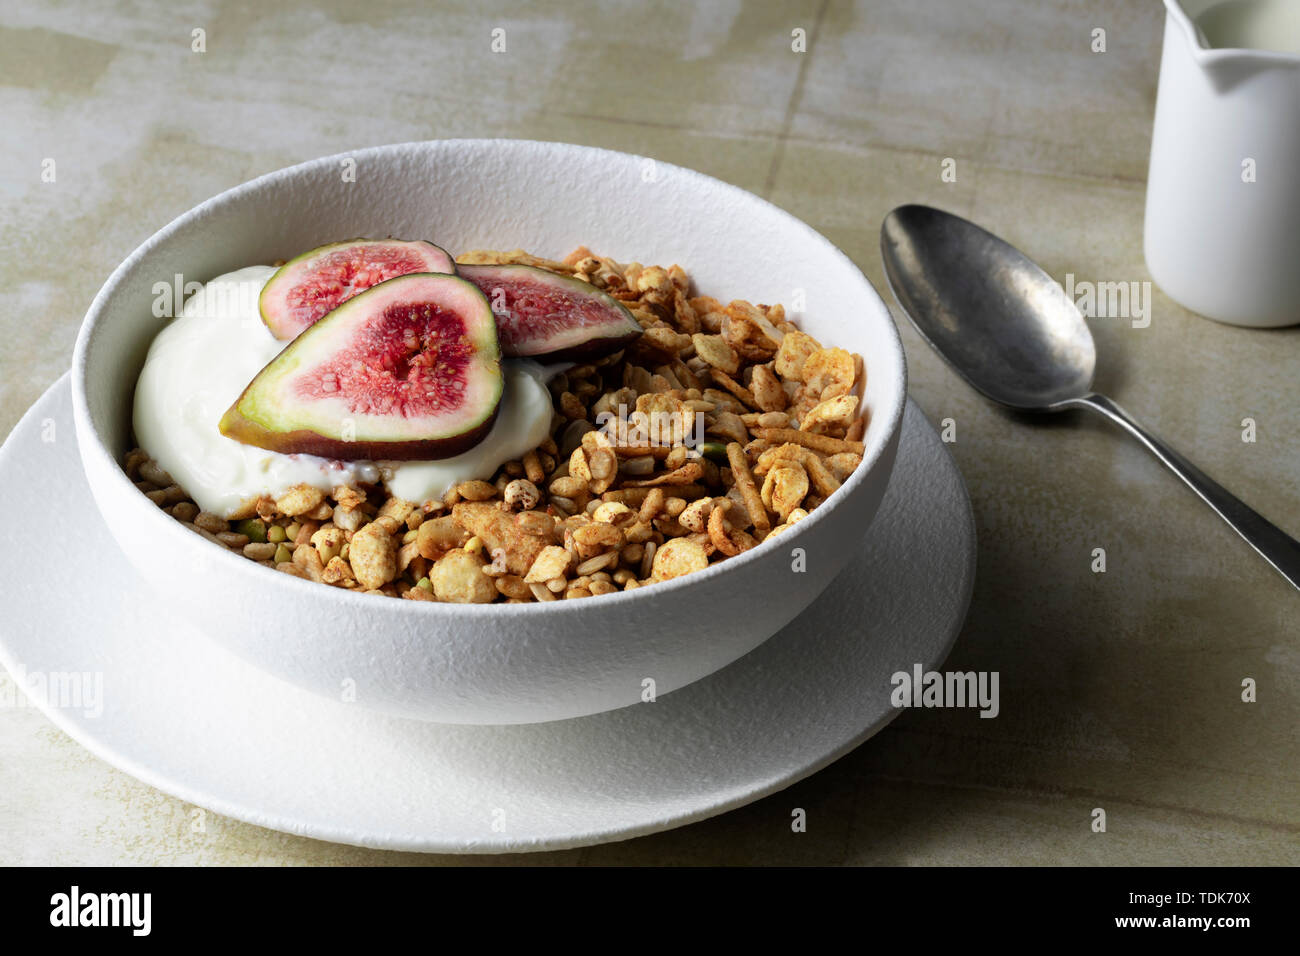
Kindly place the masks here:
<instances>
[{"instance_id":1,"label":"rear left fig slice, partly hidden behind the largest slice","mask_svg":"<svg viewBox=\"0 0 1300 956\"><path fill-rule=\"evenodd\" d=\"M270 334L287 342L358 293L412 272L455 274L456 263L424 239L332 242L281 265L257 306Z\"/></svg>"}]
</instances>

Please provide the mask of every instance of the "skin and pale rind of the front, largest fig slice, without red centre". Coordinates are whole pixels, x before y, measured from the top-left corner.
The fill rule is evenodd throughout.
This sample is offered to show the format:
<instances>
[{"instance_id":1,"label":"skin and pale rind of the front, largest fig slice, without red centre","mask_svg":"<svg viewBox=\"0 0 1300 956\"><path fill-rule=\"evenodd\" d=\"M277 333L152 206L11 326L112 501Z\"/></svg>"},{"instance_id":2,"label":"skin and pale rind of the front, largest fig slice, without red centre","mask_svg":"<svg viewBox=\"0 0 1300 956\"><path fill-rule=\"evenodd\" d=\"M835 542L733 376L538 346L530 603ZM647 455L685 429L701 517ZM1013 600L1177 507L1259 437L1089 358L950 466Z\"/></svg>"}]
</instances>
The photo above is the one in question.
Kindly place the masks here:
<instances>
[{"instance_id":1,"label":"skin and pale rind of the front, largest fig slice, without red centre","mask_svg":"<svg viewBox=\"0 0 1300 956\"><path fill-rule=\"evenodd\" d=\"M376 329L384 330L374 324L376 316L424 303L454 313L463 325L459 338L446 343L468 349L468 358L458 371L463 382L462 405L448 408L433 403L426 411L416 407L410 415L333 406L356 401L359 395L374 401L368 393L350 397L347 388L337 384L335 363L358 346L358 336L374 338ZM411 352L426 354L426 349ZM369 373L382 375L374 365ZM316 381L313 389L321 388L320 380L312 378L316 375L334 376L335 385L324 395L304 397L304 382ZM369 388L381 398L419 406L419 394L403 397L408 381L394 376ZM334 392L335 388L339 390ZM385 392L389 388L391 393ZM407 273L354 295L285 346L226 410L218 428L229 438L281 454L338 460L437 460L482 441L497 419L503 390L497 324L482 293L455 276ZM351 434L346 434L344 421L350 423Z\"/></svg>"}]
</instances>

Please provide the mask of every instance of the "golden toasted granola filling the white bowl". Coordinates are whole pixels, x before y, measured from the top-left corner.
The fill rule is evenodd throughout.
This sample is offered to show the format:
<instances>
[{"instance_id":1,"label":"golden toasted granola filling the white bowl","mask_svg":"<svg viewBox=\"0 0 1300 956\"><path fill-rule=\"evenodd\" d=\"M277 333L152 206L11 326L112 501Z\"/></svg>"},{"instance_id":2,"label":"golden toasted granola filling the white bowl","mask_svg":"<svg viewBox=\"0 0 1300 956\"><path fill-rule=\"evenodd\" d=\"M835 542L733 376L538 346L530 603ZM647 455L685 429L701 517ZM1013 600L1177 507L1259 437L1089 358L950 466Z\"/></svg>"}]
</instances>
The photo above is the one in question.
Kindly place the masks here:
<instances>
[{"instance_id":1,"label":"golden toasted granola filling the white bowl","mask_svg":"<svg viewBox=\"0 0 1300 956\"><path fill-rule=\"evenodd\" d=\"M490 481L425 502L374 485L298 485L221 518L142 449L126 473L194 532L295 578L519 604L630 591L725 561L806 518L862 462L862 356L823 347L781 306L692 297L679 265L624 265L585 247L564 261L521 250L459 261L573 276L645 330L552 378L551 437Z\"/></svg>"}]
</instances>

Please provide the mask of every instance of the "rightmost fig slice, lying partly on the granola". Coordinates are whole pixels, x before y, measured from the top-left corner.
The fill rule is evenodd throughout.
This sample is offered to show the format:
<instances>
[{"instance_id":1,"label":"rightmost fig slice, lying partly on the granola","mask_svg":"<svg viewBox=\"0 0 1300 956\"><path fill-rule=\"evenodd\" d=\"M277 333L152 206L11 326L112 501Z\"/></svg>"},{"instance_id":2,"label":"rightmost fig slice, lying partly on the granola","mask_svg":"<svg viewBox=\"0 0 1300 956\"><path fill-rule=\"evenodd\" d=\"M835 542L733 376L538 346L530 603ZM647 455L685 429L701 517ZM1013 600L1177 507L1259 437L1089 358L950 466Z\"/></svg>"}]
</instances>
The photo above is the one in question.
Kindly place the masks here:
<instances>
[{"instance_id":1,"label":"rightmost fig slice, lying partly on the granola","mask_svg":"<svg viewBox=\"0 0 1300 956\"><path fill-rule=\"evenodd\" d=\"M459 265L497 315L504 355L551 362L599 358L641 334L621 302L593 285L534 265Z\"/></svg>"}]
</instances>

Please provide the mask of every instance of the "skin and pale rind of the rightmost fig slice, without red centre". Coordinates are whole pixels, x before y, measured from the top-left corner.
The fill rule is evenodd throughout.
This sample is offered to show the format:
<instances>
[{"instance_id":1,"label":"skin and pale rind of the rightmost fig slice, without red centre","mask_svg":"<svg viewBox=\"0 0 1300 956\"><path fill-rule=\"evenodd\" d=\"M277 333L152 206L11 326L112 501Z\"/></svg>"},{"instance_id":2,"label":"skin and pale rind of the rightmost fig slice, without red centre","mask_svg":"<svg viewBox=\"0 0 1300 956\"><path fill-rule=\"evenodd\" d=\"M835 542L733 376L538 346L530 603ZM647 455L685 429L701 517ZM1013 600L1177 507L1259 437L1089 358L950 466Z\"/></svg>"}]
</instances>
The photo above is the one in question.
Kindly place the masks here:
<instances>
[{"instance_id":1,"label":"skin and pale rind of the rightmost fig slice, without red centre","mask_svg":"<svg viewBox=\"0 0 1300 956\"><path fill-rule=\"evenodd\" d=\"M625 347L641 336L641 324L632 316L627 306L612 295L597 289L588 282L568 276L560 276L549 269L536 265L521 265L517 263L485 264L485 265L459 265L458 274L478 286L480 291L491 299L494 289L506 289L515 284L529 284L543 290L555 290L573 298L582 299L603 310L604 316L599 325L589 326L590 336L575 339L573 333L581 328L573 325L560 329L555 337L564 337L571 341L547 347L545 338L534 337L524 345L510 341L508 336L502 336L502 354L520 358L537 359L540 362L586 362L598 359L619 349ZM510 303L506 303L507 308ZM498 319L498 326L502 323Z\"/></svg>"}]
</instances>

